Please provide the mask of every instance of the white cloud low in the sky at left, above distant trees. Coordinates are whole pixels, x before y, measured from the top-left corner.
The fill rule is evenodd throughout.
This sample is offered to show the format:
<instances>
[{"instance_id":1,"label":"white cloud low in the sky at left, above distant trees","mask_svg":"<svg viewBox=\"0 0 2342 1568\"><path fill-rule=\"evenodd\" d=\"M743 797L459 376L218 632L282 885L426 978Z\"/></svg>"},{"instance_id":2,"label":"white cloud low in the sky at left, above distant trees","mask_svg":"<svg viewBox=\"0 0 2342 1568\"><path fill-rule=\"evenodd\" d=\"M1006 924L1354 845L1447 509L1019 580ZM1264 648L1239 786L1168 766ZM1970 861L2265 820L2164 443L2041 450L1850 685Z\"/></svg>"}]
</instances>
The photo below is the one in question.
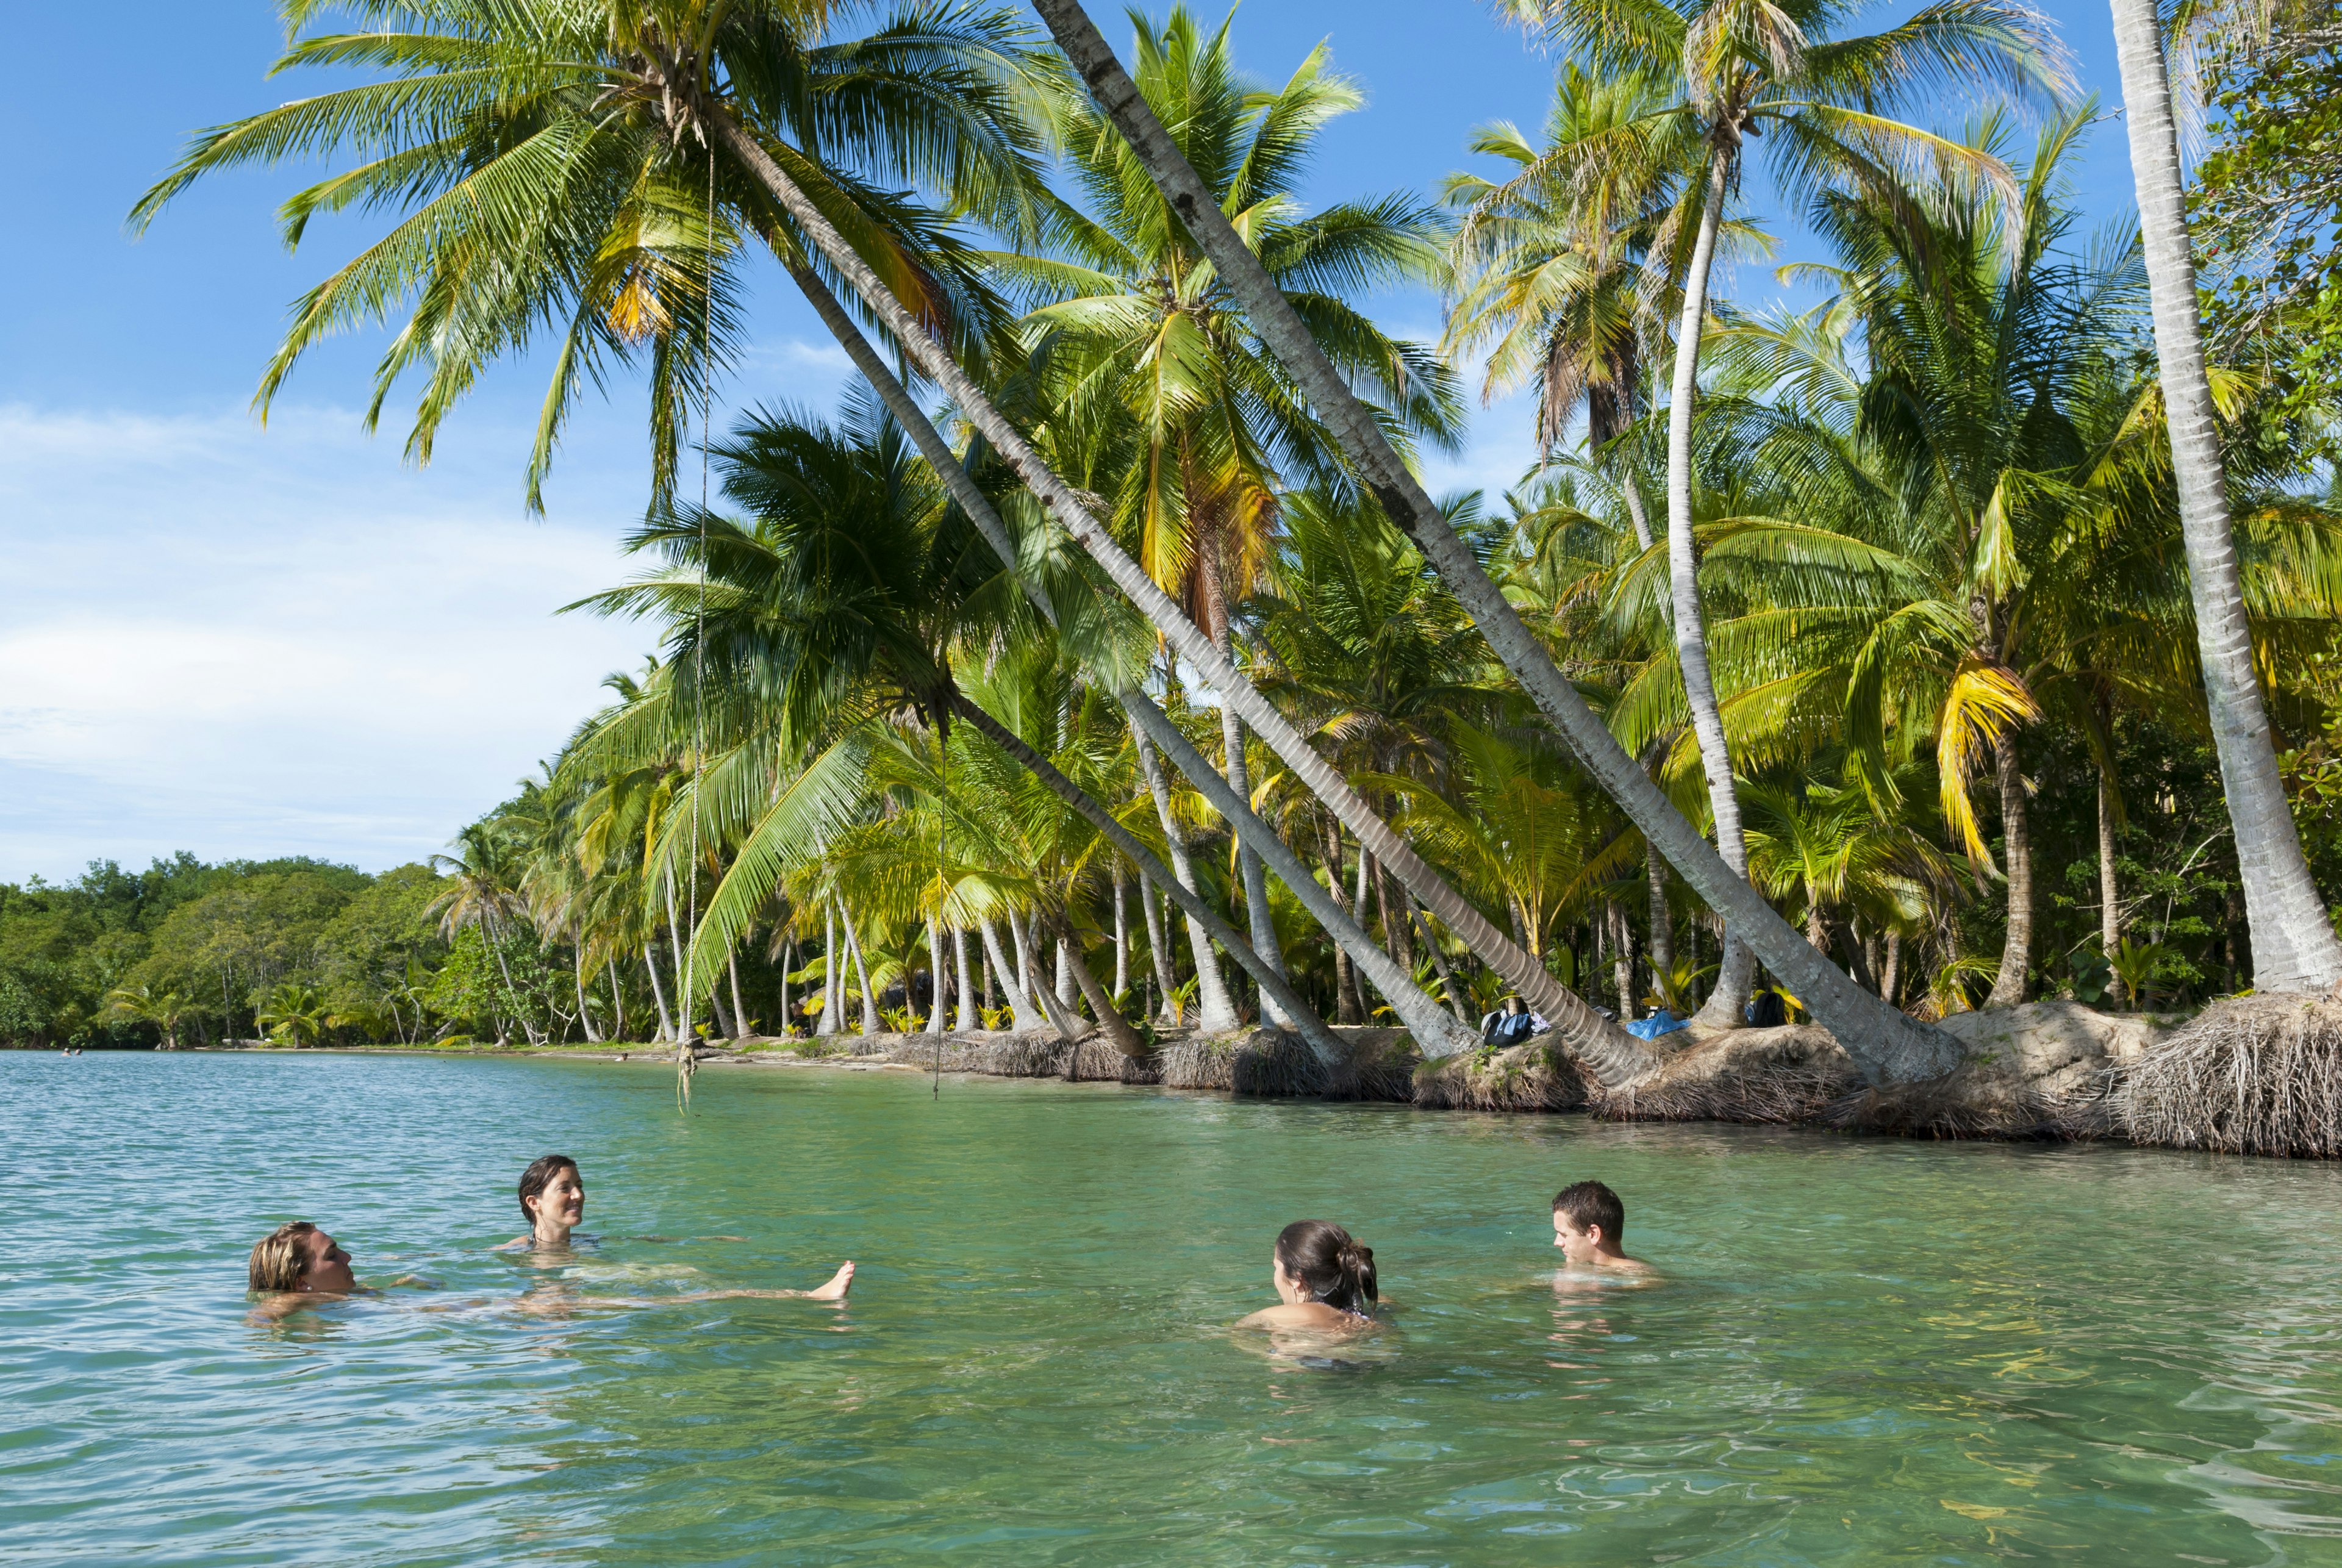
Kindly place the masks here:
<instances>
[{"instance_id":1,"label":"white cloud low in the sky at left, above distant trees","mask_svg":"<svg viewBox=\"0 0 2342 1568\"><path fill-rule=\"evenodd\" d=\"M405 468L342 410L0 407L0 880L91 857L429 854L639 662L639 438L522 515L525 431Z\"/></svg>"}]
</instances>

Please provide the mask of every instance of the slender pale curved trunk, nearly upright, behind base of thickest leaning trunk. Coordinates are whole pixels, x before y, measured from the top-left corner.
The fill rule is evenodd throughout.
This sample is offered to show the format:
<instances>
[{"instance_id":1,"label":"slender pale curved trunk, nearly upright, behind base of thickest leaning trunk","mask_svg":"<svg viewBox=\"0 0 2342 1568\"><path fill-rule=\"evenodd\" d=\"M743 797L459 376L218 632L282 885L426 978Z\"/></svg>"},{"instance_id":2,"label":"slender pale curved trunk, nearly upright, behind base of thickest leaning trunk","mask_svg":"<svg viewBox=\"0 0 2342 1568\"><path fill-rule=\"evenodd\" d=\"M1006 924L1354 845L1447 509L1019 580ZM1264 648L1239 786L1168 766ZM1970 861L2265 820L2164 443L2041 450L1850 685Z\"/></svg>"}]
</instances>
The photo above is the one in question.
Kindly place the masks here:
<instances>
[{"instance_id":1,"label":"slender pale curved trunk, nearly upright, behind base of thickest leaning trunk","mask_svg":"<svg viewBox=\"0 0 2342 1568\"><path fill-rule=\"evenodd\" d=\"M1691 414L1700 396L1707 276L1717 262L1728 178L1731 152L1714 147L1707 157L1707 204L1700 208L1700 232L1684 274L1684 321L1675 332L1675 391L1668 403L1668 604L1675 620L1675 662L1684 672L1684 702L1691 707L1691 733L1700 742L1700 772L1707 775L1707 810L1717 821L1717 854L1735 875L1747 878L1740 793L1733 789L1733 754L1724 744L1717 681L1707 669L1707 615L1700 606L1700 562L1691 536ZM1700 1009L1700 1023L1719 1030L1738 1027L1754 983L1756 955L1726 922L1724 967L1717 969L1717 988Z\"/></svg>"}]
</instances>

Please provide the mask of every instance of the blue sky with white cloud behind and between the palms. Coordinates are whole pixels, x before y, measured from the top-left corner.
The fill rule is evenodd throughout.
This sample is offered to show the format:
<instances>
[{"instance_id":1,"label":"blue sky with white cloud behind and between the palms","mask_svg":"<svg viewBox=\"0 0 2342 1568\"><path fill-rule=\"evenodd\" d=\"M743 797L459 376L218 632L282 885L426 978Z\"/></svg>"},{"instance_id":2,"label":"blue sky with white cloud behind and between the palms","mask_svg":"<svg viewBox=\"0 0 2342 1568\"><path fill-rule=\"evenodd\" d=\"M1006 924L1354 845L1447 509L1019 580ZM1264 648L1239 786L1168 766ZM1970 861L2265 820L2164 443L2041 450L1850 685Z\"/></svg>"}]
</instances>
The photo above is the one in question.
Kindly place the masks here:
<instances>
[{"instance_id":1,"label":"blue sky with white cloud behind and between the palms","mask_svg":"<svg viewBox=\"0 0 2342 1568\"><path fill-rule=\"evenodd\" d=\"M2082 87L2120 103L2105 7L2047 9ZM0 262L0 880L173 850L365 868L438 850L649 648L635 625L553 613L628 573L639 396L586 407L543 520L520 506L541 393L527 365L475 393L431 468L403 461L391 419L361 431L375 337L314 353L260 428L251 393L288 302L370 225L321 227L286 255L272 213L293 169L199 187L138 241L122 215L187 131L316 91L265 77L274 9L28 7L9 33L16 59L47 66L0 98L0 192L19 213ZM1464 164L1471 126L1534 126L1553 75L1473 0L1248 0L1237 40L1276 77L1323 40L1363 82L1365 110L1323 140L1319 199L1429 192ZM1946 129L1960 115L1942 105ZM2098 126L2082 194L2098 218L2127 211L2117 122ZM1794 225L1768 215L1796 255ZM1771 297L1771 267L1726 290ZM1408 335L1438 325L1429 297L1375 309ZM726 398L827 405L841 372L810 314L766 290ZM1501 487L1527 456L1513 400L1431 477Z\"/></svg>"}]
</instances>

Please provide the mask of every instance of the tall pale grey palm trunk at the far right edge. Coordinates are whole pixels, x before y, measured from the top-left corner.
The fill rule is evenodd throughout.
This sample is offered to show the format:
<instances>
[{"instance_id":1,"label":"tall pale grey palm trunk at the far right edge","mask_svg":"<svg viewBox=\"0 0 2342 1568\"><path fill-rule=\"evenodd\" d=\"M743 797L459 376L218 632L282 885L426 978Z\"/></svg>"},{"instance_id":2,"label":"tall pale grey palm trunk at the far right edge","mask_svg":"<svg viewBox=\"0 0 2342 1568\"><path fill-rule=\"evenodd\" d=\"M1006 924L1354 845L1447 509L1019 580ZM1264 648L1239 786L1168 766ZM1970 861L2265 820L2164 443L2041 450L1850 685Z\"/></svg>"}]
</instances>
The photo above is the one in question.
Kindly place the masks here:
<instances>
[{"instance_id":1,"label":"tall pale grey palm trunk at the far right edge","mask_svg":"<svg viewBox=\"0 0 2342 1568\"><path fill-rule=\"evenodd\" d=\"M2164 414L2171 424L2171 473L2178 480L2180 536L2187 543L2187 592L2194 599L2197 653L2227 817L2237 828L2237 880L2253 938L2253 985L2321 992L2342 981L2342 941L2309 880L2302 835L2293 824L2276 744L2253 669L2253 634L2244 613L2244 578L2227 517L2227 470L2204 372L2204 323L2197 316L2194 257L2180 194L2180 145L2171 124L2171 82L2155 0L2112 0L2115 54L2122 61L2122 119L2131 136L2138 227L2145 239L2155 356Z\"/></svg>"}]
</instances>

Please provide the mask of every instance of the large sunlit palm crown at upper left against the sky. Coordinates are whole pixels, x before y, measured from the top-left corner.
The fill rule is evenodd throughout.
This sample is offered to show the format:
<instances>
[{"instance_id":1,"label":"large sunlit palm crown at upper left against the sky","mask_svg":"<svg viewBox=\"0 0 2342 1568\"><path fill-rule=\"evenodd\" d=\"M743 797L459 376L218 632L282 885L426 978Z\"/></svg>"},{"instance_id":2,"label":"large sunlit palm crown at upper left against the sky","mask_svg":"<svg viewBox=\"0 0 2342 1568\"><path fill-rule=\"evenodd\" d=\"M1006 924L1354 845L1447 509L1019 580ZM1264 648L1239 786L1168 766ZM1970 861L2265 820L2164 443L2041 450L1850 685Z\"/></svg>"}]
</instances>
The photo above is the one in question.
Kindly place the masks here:
<instances>
[{"instance_id":1,"label":"large sunlit palm crown at upper left against the sky","mask_svg":"<svg viewBox=\"0 0 2342 1568\"><path fill-rule=\"evenodd\" d=\"M321 30L328 16L370 30ZM349 161L283 204L286 243L321 213L396 222L297 302L260 405L323 337L386 323L368 419L419 372L408 445L429 459L492 360L550 342L532 501L576 396L632 363L649 370L665 494L691 405L740 346L745 241L803 260L768 192L714 154L705 115L749 126L930 325L963 346L998 325L963 241L902 187L1000 225L1030 218L1026 98L1042 66L1023 23L953 0L860 37L829 23L813 0L288 0L276 70L377 80L204 131L133 222L218 169Z\"/></svg>"}]
</instances>

